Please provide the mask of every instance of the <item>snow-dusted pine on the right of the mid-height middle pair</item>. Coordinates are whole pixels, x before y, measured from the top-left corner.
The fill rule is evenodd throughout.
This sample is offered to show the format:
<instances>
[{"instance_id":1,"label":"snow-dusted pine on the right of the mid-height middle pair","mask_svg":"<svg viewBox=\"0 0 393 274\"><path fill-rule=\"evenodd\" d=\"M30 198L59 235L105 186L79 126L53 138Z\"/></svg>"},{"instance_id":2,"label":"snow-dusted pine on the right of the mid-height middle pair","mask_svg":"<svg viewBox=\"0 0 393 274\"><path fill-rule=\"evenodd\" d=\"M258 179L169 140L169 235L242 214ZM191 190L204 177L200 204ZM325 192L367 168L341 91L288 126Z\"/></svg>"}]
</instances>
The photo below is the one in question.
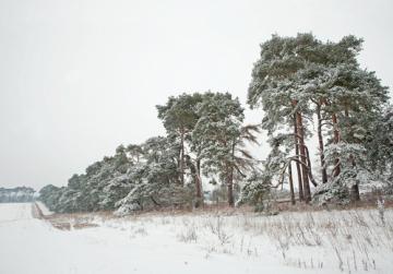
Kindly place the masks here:
<instances>
[{"instance_id":1,"label":"snow-dusted pine on the right of the mid-height middle pair","mask_svg":"<svg viewBox=\"0 0 393 274\"><path fill-rule=\"evenodd\" d=\"M236 145L241 135L241 123L245 115L238 98L229 93L206 93L199 104L200 116L192 132L192 140L201 147L204 159L203 172L218 175L227 186L228 204L235 205L234 176L240 170L236 158Z\"/></svg>"}]
</instances>

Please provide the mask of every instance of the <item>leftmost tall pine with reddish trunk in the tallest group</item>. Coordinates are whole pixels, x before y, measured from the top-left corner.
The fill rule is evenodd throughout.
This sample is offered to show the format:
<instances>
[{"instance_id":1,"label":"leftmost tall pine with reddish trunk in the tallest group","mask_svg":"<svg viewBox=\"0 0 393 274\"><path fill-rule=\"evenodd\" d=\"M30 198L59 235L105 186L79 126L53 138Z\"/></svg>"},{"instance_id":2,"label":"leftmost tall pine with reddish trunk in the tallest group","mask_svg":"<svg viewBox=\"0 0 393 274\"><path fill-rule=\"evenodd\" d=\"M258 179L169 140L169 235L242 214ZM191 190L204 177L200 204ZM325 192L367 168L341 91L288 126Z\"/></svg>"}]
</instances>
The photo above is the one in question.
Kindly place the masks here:
<instances>
[{"instance_id":1,"label":"leftmost tall pine with reddish trunk in the tallest group","mask_svg":"<svg viewBox=\"0 0 393 274\"><path fill-rule=\"evenodd\" d=\"M299 88L298 74L313 59L319 41L311 34L279 37L261 45L261 58L254 63L248 91L251 108L262 105L265 112L262 127L273 136L283 126L295 128L297 163L300 164L302 192L306 202L311 200L309 186L310 163L305 140L307 124L303 116L310 115L308 98ZM294 117L295 116L295 123ZM299 170L300 171L300 170ZM298 175L300 177L300 175Z\"/></svg>"}]
</instances>

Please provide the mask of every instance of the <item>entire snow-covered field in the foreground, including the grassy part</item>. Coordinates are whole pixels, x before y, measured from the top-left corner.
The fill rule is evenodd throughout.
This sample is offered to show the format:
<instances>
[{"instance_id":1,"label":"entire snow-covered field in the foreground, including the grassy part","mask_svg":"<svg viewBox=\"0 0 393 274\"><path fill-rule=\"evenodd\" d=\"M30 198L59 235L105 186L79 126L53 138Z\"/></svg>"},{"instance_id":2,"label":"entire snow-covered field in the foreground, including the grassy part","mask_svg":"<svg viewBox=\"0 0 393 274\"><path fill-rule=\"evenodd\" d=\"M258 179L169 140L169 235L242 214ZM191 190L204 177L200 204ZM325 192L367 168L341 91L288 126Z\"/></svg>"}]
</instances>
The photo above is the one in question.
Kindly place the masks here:
<instances>
[{"instance_id":1,"label":"entire snow-covered field in the foreground, including the grassy part","mask_svg":"<svg viewBox=\"0 0 393 274\"><path fill-rule=\"evenodd\" d=\"M43 206L43 205L40 205ZM43 210L46 213L45 210ZM384 221L384 222L383 222ZM393 211L74 215L0 204L0 273L393 273ZM98 225L76 229L78 224Z\"/></svg>"}]
</instances>

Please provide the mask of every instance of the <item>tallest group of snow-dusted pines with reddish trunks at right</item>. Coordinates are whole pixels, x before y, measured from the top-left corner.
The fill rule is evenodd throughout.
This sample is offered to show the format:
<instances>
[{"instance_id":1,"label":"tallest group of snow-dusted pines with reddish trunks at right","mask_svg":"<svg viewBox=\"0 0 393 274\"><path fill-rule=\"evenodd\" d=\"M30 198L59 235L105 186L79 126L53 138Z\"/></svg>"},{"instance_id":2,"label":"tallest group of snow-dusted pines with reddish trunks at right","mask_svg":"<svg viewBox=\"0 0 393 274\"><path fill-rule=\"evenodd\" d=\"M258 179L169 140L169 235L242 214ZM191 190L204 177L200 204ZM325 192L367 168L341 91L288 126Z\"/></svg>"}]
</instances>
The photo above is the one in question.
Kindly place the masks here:
<instances>
[{"instance_id":1,"label":"tallest group of snow-dusted pines with reddish trunks at right","mask_svg":"<svg viewBox=\"0 0 393 274\"><path fill-rule=\"evenodd\" d=\"M346 36L322 43L311 34L279 37L261 45L248 91L251 108L261 106L272 151L264 176L287 180L295 202L359 200L359 186L392 174L391 110L388 87L361 69L362 40ZM390 123L390 124L389 124ZM311 166L307 140L317 128L319 172ZM381 147L382 146L382 147ZM376 156L378 160L376 162ZM278 178L277 178L278 177Z\"/></svg>"}]
</instances>

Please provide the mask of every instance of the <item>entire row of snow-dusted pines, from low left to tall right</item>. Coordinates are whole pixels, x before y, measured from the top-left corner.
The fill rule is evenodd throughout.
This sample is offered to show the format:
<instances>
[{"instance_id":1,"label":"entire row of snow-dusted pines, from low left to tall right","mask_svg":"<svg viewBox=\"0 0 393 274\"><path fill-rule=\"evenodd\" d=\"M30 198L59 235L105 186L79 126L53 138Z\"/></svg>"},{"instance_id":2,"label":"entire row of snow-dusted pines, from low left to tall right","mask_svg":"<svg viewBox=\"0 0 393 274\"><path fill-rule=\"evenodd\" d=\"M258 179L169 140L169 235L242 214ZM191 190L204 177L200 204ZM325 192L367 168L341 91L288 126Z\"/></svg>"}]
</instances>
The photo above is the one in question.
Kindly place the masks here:
<instances>
[{"instance_id":1,"label":"entire row of snow-dusted pines, from low left to tall right","mask_svg":"<svg viewBox=\"0 0 393 274\"><path fill-rule=\"evenodd\" d=\"M209 180L226 187L230 206L262 203L284 183L293 203L296 192L306 203L358 200L359 187L393 177L389 93L360 68L361 44L354 36L323 43L311 34L273 35L261 45L248 91L249 107L263 110L261 124L245 126L243 108L229 93L169 97L157 106L165 136L120 145L67 187L43 188L40 199L56 212L200 206ZM271 146L263 162L246 147L258 143L260 129ZM317 150L308 145L314 131Z\"/></svg>"}]
</instances>

